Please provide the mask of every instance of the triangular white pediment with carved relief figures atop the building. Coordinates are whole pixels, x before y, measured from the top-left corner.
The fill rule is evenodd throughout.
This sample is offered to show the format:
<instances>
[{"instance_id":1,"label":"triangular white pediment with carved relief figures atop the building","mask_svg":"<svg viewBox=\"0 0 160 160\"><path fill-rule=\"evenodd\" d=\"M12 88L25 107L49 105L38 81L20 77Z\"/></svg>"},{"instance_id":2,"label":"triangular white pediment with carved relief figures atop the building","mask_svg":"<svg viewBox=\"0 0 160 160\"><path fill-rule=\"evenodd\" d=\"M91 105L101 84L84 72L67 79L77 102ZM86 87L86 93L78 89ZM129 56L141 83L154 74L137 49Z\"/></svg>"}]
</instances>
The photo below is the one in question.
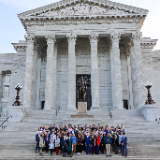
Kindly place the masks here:
<instances>
[{"instance_id":1,"label":"triangular white pediment with carved relief figures atop the building","mask_svg":"<svg viewBox=\"0 0 160 160\"><path fill-rule=\"evenodd\" d=\"M19 14L19 17L64 17L85 15L146 15L148 10L106 0L63 0Z\"/></svg>"}]
</instances>

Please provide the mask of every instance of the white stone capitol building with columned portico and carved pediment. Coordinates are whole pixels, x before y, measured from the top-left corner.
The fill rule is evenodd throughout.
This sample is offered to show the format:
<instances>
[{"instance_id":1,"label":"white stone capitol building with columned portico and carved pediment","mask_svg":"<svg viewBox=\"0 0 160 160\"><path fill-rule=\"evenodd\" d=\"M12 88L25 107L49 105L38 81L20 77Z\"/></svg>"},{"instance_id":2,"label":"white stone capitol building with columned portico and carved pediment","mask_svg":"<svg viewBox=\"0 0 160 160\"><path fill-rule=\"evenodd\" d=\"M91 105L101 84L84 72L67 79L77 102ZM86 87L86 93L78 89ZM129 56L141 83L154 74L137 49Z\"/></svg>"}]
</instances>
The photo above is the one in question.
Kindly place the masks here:
<instances>
[{"instance_id":1,"label":"white stone capitol building with columned portico and carved pediment","mask_svg":"<svg viewBox=\"0 0 160 160\"><path fill-rule=\"evenodd\" d=\"M147 81L160 105L157 39L141 32L148 12L108 0L63 0L18 14L26 35L12 43L17 53L0 54L1 117L18 83L26 110L76 110L82 76L87 110L139 109Z\"/></svg>"}]
</instances>

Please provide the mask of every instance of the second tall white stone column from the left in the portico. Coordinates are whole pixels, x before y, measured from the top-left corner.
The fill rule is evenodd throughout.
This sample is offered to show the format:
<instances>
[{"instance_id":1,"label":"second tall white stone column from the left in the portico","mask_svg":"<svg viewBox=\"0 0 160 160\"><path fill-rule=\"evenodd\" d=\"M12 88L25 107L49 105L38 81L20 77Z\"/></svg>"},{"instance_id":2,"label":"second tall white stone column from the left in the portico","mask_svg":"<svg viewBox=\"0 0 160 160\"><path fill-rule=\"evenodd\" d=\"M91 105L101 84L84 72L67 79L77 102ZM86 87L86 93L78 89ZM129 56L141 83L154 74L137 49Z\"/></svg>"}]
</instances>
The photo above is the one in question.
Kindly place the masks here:
<instances>
[{"instance_id":1,"label":"second tall white stone column from the left in the portico","mask_svg":"<svg viewBox=\"0 0 160 160\"><path fill-rule=\"evenodd\" d=\"M46 63L46 87L45 87L45 110L53 109L53 55L55 35L46 36L47 39L47 63Z\"/></svg>"}]
</instances>

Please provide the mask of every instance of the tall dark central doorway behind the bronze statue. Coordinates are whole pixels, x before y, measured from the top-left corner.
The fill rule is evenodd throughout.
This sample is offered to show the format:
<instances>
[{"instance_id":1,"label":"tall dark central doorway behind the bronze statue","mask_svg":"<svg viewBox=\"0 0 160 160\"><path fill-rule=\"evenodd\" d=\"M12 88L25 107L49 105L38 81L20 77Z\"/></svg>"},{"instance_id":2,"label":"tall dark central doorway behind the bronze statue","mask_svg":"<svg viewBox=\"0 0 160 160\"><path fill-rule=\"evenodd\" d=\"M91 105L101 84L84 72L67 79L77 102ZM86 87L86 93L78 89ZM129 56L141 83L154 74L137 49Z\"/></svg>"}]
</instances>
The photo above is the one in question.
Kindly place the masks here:
<instances>
[{"instance_id":1,"label":"tall dark central doorway behind the bronze statue","mask_svg":"<svg viewBox=\"0 0 160 160\"><path fill-rule=\"evenodd\" d=\"M78 108L78 102L80 101L78 98L79 90L77 86L78 79L83 76L83 79L86 81L87 84L87 91L86 91L86 102L87 102L87 110L91 109L92 106L92 97L91 97L91 75L76 75L76 107Z\"/></svg>"}]
</instances>

